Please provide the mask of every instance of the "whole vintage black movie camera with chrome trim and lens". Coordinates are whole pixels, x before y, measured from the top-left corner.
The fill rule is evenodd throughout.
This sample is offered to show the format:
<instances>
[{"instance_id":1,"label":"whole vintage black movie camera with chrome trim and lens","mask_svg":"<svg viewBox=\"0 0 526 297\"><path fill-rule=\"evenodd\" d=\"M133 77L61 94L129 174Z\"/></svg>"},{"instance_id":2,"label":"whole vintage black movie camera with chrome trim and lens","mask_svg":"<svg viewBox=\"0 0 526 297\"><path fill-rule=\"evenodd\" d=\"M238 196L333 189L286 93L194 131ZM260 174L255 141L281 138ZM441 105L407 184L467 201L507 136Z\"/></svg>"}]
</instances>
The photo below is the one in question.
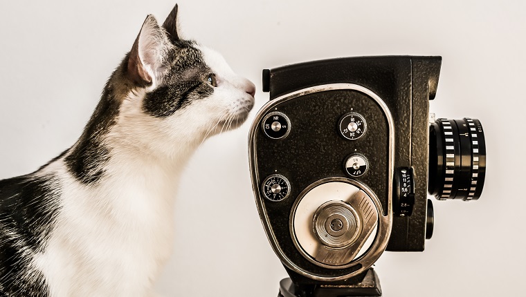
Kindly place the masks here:
<instances>
[{"instance_id":1,"label":"whole vintage black movie camera with chrome trim and lens","mask_svg":"<svg viewBox=\"0 0 526 297\"><path fill-rule=\"evenodd\" d=\"M428 153L428 102L441 61L352 57L263 71L270 101L251 127L251 177L266 235L293 282L345 283L363 276L384 250L424 250L433 232L428 164L440 171L429 191L451 198L445 180L453 178L444 176L457 177L468 160L455 146L460 157L446 162L446 119L433 134L444 149ZM473 167L473 149L468 153ZM482 152L476 159L482 175ZM480 191L466 189L462 198Z\"/></svg>"}]
</instances>

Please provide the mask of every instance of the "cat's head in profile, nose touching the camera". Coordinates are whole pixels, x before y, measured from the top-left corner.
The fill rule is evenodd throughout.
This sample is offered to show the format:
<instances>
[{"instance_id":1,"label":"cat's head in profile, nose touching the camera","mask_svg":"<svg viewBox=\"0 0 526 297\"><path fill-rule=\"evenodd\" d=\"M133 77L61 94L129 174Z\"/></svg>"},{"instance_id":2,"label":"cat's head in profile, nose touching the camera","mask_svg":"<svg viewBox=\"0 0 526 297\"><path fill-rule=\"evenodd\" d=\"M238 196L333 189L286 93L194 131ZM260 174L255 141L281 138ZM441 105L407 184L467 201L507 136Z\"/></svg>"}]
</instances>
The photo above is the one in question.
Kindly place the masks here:
<instances>
[{"instance_id":1,"label":"cat's head in profile, nose touching the camera","mask_svg":"<svg viewBox=\"0 0 526 297\"><path fill-rule=\"evenodd\" d=\"M170 144L201 143L242 124L255 93L219 53L181 38L177 10L162 26L152 15L143 23L120 67L132 88L114 127L166 153Z\"/></svg>"}]
</instances>

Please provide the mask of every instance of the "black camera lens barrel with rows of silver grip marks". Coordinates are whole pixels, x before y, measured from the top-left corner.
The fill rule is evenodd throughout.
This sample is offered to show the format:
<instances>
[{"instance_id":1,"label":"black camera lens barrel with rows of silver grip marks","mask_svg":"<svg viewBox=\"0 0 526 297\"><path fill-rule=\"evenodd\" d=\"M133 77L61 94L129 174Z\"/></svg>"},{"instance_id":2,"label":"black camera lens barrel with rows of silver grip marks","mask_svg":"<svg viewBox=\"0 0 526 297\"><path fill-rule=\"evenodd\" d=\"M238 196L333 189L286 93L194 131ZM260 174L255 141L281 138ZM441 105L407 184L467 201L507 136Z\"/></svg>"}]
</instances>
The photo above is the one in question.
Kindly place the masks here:
<instances>
[{"instance_id":1,"label":"black camera lens barrel with rows of silver grip marks","mask_svg":"<svg viewBox=\"0 0 526 297\"><path fill-rule=\"evenodd\" d=\"M428 192L438 200L477 200L486 175L486 144L478 119L437 119L429 127Z\"/></svg>"}]
</instances>

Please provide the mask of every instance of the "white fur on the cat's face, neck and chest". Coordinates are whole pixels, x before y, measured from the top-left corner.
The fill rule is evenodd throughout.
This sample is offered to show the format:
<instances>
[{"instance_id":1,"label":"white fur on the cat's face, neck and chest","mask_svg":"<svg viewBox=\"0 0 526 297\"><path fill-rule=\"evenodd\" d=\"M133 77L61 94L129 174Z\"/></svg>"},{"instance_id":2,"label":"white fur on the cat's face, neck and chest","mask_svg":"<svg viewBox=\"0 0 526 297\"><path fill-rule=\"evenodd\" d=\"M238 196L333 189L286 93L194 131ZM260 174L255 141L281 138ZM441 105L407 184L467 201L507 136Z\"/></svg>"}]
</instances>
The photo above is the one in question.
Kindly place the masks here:
<instances>
[{"instance_id":1,"label":"white fur on the cat's face, neck and chest","mask_svg":"<svg viewBox=\"0 0 526 297\"><path fill-rule=\"evenodd\" d=\"M162 79L157 64L163 53L152 32L156 25L148 22L140 33L146 36L140 59L152 78ZM172 251L174 195L185 164L207 137L242 124L254 104L255 86L235 75L217 52L199 49L217 78L210 97L168 117L147 115L143 100L161 82L155 80L118 98L123 101L116 124L103 139L109 161L100 164L100 180L75 179L64 162L68 153L37 173L53 173L62 191L56 225L32 263L51 296L149 294Z\"/></svg>"}]
</instances>

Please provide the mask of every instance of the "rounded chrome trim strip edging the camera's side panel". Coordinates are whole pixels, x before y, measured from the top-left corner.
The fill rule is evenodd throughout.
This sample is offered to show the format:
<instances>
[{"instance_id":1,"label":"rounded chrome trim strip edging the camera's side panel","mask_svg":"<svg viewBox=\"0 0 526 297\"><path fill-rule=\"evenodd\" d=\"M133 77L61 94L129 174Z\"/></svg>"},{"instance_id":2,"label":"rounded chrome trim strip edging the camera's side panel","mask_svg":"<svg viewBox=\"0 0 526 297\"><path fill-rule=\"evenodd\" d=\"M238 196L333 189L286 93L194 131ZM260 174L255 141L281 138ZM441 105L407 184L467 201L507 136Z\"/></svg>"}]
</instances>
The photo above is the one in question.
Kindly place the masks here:
<instances>
[{"instance_id":1,"label":"rounded chrome trim strip edging the camera's side panel","mask_svg":"<svg viewBox=\"0 0 526 297\"><path fill-rule=\"evenodd\" d=\"M296 264L294 264L287 256L284 255L280 247L278 246L278 243L276 241L275 235L270 228L268 224L268 216L267 213L263 207L263 201L262 201L262 193L260 193L260 185L257 184L257 181L260 180L259 173L257 172L257 164L255 164L255 135L257 131L260 128L260 122L262 118L269 113L275 106L282 102L287 102L290 99L294 99L296 97L301 97L304 95L309 95L312 93L318 93L318 92L324 92L329 90L357 90L361 93L364 93L365 95L368 95L372 99L374 99L375 102L380 106L380 108L383 110L383 113L386 115L386 118L388 120L388 126L389 126L389 160L388 160L388 209L387 209L387 215L383 215L383 209L381 204L378 203L378 211L379 211L379 229L377 231L377 238L375 238L372 246L368 251L366 251L361 257L359 257L356 261L352 262L354 265L361 264L362 267L360 269L357 269L356 271L345 274L342 276L335 276L335 277L325 277L313 274L309 271L305 271L304 269L301 269ZM356 84L325 84L320 86L313 86L310 88L304 88L302 90L297 90L295 92L288 93L286 95L282 95L276 99L273 99L269 102L267 102L262 108L260 108L260 111L258 111L257 115L255 116L255 119L252 123L250 134L248 135L248 159L249 159L249 166L251 169L251 178L252 178L252 187L253 192L255 195L255 201L257 205L257 211L260 215L260 218L262 220L266 237L269 239L269 242L271 243L271 246L278 256L280 258L281 262L289 267L289 269L296 271L296 273L306 276L307 278L311 278L313 280L322 280L322 281L333 281L333 280L345 280L347 278L350 278L352 276L356 276L357 274L360 274L361 272L365 271L371 265L378 260L378 258L381 256L381 253L385 251L388 240L391 233L392 228L392 180L393 180L393 173L394 173L394 121L392 119L392 115L389 111L388 106L385 102L372 90L369 90L368 88L365 88L363 86L359 86ZM329 178L332 179L332 178ZM325 179L324 179L325 180ZM364 187L363 189L367 189ZM376 199L375 195L372 195L374 199Z\"/></svg>"}]
</instances>

